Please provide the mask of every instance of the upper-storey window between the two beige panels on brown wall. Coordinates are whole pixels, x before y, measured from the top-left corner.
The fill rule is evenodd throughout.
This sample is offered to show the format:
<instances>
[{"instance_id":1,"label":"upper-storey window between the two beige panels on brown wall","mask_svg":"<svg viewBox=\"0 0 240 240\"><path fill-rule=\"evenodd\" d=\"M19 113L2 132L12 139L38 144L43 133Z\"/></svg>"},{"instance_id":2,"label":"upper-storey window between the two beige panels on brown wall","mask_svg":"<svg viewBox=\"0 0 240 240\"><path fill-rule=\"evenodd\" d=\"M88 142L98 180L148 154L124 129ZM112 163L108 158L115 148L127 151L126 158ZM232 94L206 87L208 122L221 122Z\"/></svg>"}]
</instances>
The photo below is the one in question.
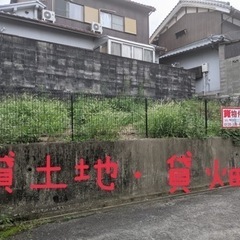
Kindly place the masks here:
<instances>
[{"instance_id":1,"label":"upper-storey window between the two beige panels on brown wall","mask_svg":"<svg viewBox=\"0 0 240 240\"><path fill-rule=\"evenodd\" d=\"M123 31L123 17L111 13L101 12L100 22L103 27Z\"/></svg>"}]
</instances>

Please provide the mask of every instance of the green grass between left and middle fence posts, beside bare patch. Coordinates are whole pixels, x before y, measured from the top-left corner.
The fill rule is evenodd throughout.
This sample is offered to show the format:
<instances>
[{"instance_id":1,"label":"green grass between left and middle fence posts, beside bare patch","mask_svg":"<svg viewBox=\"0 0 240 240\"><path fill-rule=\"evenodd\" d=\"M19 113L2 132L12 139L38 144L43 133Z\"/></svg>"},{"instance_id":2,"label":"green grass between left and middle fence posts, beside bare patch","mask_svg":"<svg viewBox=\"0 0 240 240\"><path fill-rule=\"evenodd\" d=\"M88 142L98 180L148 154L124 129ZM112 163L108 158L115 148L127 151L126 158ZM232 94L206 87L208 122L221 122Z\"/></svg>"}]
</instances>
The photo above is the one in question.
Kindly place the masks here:
<instances>
[{"instance_id":1,"label":"green grass between left and middle fence posts, beside bare patch","mask_svg":"<svg viewBox=\"0 0 240 240\"><path fill-rule=\"evenodd\" d=\"M144 105L133 98L84 99L74 103L75 140L116 140L121 130L138 121Z\"/></svg>"}]
</instances>

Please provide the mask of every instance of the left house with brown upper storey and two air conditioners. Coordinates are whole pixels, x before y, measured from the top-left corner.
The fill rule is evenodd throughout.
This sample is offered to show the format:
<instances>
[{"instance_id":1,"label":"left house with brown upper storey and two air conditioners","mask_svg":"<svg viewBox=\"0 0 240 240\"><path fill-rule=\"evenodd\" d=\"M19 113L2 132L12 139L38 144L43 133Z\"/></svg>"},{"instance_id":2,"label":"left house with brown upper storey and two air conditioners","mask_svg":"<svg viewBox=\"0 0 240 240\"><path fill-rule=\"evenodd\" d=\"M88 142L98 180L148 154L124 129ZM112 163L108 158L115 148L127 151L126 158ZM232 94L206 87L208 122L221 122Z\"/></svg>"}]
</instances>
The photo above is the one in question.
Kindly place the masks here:
<instances>
[{"instance_id":1,"label":"left house with brown upper storey and two air conditioners","mask_svg":"<svg viewBox=\"0 0 240 240\"><path fill-rule=\"evenodd\" d=\"M129 0L15 0L0 6L0 31L155 62L149 45L153 11Z\"/></svg>"}]
</instances>

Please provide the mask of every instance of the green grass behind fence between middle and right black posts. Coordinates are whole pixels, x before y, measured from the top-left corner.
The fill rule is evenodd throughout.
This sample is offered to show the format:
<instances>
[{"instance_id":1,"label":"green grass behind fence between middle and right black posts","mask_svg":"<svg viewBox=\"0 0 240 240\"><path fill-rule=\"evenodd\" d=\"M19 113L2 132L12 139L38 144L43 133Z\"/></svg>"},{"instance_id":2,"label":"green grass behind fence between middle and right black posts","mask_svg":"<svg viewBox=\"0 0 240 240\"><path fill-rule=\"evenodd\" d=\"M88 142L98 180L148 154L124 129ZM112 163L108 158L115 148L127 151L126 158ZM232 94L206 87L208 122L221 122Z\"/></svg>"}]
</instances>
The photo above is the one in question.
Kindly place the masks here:
<instances>
[{"instance_id":1,"label":"green grass behind fence between middle and right black posts","mask_svg":"<svg viewBox=\"0 0 240 240\"><path fill-rule=\"evenodd\" d=\"M187 100L183 102L157 102L151 105L148 111L149 137L204 137L204 121L201 117L199 102ZM144 120L139 127L144 131Z\"/></svg>"}]
</instances>

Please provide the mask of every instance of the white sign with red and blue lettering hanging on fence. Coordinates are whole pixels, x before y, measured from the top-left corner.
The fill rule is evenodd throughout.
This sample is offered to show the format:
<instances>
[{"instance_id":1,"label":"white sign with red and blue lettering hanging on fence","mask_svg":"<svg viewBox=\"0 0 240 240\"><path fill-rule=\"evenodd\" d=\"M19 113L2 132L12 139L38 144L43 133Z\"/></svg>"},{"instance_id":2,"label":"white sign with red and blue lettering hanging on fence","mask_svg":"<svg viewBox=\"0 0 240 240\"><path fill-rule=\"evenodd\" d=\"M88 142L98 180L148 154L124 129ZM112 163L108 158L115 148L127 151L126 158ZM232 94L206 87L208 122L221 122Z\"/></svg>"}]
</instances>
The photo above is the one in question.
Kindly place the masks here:
<instances>
[{"instance_id":1,"label":"white sign with red and blue lettering hanging on fence","mask_svg":"<svg viewBox=\"0 0 240 240\"><path fill-rule=\"evenodd\" d=\"M222 107L222 128L240 128L240 107Z\"/></svg>"}]
</instances>

